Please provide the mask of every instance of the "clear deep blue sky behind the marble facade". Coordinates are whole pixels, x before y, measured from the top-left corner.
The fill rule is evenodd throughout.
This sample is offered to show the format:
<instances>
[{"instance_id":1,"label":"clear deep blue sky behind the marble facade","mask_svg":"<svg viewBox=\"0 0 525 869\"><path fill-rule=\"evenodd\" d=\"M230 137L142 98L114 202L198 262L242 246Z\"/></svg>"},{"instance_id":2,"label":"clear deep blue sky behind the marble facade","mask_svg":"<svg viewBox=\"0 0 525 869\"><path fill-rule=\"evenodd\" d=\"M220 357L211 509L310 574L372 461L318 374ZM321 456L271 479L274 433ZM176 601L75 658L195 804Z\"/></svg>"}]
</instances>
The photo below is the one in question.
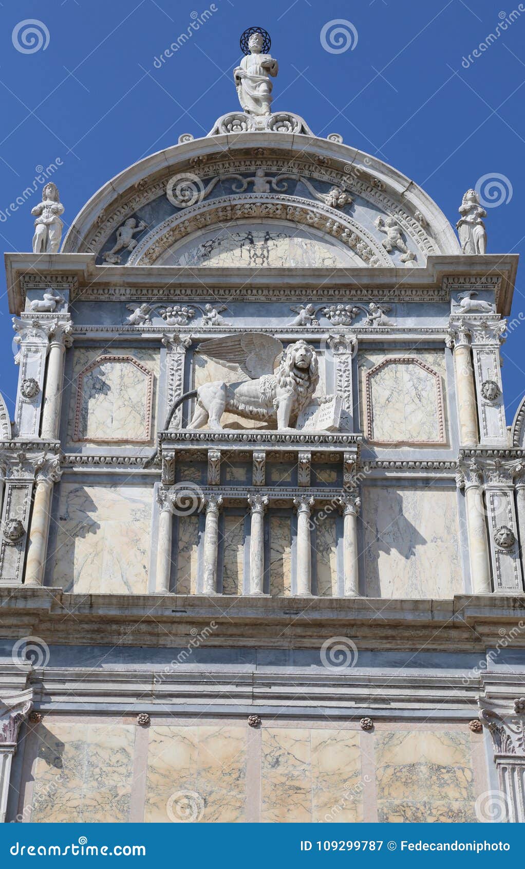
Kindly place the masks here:
<instances>
[{"instance_id":1,"label":"clear deep blue sky behind the marble facade","mask_svg":"<svg viewBox=\"0 0 525 869\"><path fill-rule=\"evenodd\" d=\"M155 57L187 30L192 13L210 9L157 69ZM512 23L480 51L513 10ZM25 19L44 25L42 48L32 53L13 44ZM353 25L353 47L345 51L321 42L325 24L336 19ZM384 159L426 189L453 223L467 188L482 176L504 176L502 202L487 218L489 253L525 249L525 3L3 0L0 21L4 250L30 250L30 209L40 191L7 219L1 213L34 181L36 167L59 159L54 180L69 225L121 169L181 133L206 135L216 117L237 109L231 71L240 33L251 25L270 32L279 60L274 110L297 112L319 136L338 132ZM0 296L0 388L12 408L17 372L4 279ZM513 315L524 306L519 269ZM525 391L520 329L503 346L508 423Z\"/></svg>"}]
</instances>

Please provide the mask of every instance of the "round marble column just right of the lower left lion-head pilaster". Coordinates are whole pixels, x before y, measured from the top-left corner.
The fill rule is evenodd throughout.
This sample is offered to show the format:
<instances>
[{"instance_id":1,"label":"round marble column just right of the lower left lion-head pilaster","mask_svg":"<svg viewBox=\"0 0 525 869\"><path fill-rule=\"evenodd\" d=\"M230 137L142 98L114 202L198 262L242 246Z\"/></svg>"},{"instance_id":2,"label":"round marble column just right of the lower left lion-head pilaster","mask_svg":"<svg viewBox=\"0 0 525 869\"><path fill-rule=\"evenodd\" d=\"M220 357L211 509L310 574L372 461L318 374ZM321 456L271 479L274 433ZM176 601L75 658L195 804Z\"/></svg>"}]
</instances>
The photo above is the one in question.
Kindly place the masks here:
<instances>
[{"instance_id":1,"label":"round marble column just right of the lower left lion-head pilaster","mask_svg":"<svg viewBox=\"0 0 525 869\"><path fill-rule=\"evenodd\" d=\"M36 471L35 497L25 566L26 586L41 586L43 584L53 483L59 481L62 474L59 456L46 457L36 468Z\"/></svg>"}]
</instances>

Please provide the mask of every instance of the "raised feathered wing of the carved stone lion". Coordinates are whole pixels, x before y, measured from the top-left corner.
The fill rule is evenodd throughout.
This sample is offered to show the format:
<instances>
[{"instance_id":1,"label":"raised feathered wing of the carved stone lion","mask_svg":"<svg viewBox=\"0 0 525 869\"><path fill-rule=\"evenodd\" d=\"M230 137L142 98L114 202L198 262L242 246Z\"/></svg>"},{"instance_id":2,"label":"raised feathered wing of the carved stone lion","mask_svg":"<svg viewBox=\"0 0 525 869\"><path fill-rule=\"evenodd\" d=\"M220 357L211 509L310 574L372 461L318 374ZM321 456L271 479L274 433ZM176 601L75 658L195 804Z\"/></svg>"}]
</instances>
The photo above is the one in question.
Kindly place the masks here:
<instances>
[{"instance_id":1,"label":"raised feathered wing of the carved stone lion","mask_svg":"<svg viewBox=\"0 0 525 869\"><path fill-rule=\"evenodd\" d=\"M283 345L272 335L241 332L239 335L203 341L199 349L211 359L239 365L248 377L255 380L262 375L273 374L275 360L283 352Z\"/></svg>"}]
</instances>

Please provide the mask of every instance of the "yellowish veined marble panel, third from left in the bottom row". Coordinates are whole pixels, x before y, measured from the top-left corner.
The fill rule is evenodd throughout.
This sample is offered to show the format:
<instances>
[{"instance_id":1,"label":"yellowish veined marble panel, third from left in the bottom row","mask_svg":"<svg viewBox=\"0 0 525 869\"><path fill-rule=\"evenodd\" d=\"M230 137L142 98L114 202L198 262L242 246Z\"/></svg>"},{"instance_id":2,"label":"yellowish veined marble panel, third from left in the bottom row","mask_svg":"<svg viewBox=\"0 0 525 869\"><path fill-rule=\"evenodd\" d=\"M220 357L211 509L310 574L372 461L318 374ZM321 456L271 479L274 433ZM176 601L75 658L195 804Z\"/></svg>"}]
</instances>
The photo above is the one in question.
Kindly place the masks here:
<instances>
[{"instance_id":1,"label":"yellowish veined marble panel, third from left in the bottom row","mask_svg":"<svg viewBox=\"0 0 525 869\"><path fill-rule=\"evenodd\" d=\"M265 727L261 777L263 822L362 820L356 731Z\"/></svg>"}]
</instances>

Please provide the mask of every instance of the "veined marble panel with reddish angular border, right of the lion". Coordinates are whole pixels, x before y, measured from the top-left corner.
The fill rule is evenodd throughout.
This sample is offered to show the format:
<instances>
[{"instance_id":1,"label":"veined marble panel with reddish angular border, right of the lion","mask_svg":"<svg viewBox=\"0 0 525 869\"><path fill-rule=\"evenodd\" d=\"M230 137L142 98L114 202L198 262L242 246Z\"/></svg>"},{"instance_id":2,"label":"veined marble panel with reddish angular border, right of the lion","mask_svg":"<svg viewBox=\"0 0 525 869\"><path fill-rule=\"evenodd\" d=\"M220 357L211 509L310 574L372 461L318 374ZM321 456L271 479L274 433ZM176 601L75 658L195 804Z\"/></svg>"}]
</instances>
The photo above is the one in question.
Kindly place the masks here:
<instances>
[{"instance_id":1,"label":"veined marble panel with reddish angular border, right of the lion","mask_svg":"<svg viewBox=\"0 0 525 869\"><path fill-rule=\"evenodd\" d=\"M443 352L366 351L359 370L361 419L371 441L446 443Z\"/></svg>"}]
</instances>

